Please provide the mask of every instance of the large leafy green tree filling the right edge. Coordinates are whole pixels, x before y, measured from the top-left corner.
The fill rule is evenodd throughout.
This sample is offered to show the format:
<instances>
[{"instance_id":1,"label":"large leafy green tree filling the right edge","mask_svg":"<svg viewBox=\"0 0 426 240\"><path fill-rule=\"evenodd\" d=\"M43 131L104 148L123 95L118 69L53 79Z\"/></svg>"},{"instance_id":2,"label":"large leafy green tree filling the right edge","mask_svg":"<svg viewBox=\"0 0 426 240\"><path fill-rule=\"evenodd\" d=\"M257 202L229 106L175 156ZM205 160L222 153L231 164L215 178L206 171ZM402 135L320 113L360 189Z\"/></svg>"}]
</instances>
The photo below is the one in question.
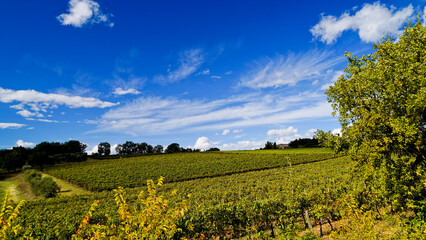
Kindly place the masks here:
<instances>
[{"instance_id":1,"label":"large leafy green tree filling the right edge","mask_svg":"<svg viewBox=\"0 0 426 240\"><path fill-rule=\"evenodd\" d=\"M418 19L374 50L346 53L346 74L326 94L352 158L398 210L426 198L426 28Z\"/></svg>"}]
</instances>

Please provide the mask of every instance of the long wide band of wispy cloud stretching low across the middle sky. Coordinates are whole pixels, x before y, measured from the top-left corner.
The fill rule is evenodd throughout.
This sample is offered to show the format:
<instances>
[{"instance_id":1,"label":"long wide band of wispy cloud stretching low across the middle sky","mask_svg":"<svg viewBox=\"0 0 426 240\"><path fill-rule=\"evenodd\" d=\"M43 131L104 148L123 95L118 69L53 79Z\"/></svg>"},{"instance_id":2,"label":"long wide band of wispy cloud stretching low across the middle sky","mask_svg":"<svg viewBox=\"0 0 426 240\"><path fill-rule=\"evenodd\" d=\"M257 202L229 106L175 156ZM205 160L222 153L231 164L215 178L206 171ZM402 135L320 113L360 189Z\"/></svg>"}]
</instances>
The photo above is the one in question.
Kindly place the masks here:
<instances>
[{"instance_id":1,"label":"long wide band of wispy cloud stretching low across the middle sky","mask_svg":"<svg viewBox=\"0 0 426 240\"><path fill-rule=\"evenodd\" d=\"M230 129L317 119L331 112L323 94L312 92L285 97L256 93L215 101L141 97L91 122L98 124L95 132L155 135L213 130L229 134Z\"/></svg>"}]
</instances>

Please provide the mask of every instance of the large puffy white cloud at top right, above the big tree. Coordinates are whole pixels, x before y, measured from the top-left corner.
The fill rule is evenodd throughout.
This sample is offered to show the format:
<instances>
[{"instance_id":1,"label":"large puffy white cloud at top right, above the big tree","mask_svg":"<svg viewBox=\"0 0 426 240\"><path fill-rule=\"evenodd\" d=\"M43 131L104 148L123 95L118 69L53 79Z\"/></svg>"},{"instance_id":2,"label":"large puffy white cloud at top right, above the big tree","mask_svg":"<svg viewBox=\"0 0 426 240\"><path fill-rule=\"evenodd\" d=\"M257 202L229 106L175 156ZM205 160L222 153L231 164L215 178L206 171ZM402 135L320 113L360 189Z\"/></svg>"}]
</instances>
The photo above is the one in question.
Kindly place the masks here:
<instances>
[{"instance_id":1,"label":"large puffy white cloud at top right, above the big tree","mask_svg":"<svg viewBox=\"0 0 426 240\"><path fill-rule=\"evenodd\" d=\"M401 34L401 27L413 15L414 9L410 4L396 11L396 8L376 2L365 4L354 15L343 13L339 18L322 16L321 21L310 29L315 38L327 44L334 43L346 30L358 31L364 42L377 42L384 35Z\"/></svg>"}]
</instances>

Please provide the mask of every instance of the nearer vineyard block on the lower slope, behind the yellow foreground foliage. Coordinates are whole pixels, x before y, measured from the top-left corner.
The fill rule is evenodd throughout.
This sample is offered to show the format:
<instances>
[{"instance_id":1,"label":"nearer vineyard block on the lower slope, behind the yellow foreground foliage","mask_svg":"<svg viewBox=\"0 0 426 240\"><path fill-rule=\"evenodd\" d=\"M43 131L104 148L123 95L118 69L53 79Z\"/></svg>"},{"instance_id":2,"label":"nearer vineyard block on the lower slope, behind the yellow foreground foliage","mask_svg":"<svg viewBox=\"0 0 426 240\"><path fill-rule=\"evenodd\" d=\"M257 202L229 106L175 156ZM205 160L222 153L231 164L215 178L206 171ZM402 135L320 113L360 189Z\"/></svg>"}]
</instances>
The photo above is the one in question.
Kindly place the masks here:
<instances>
[{"instance_id":1,"label":"nearer vineyard block on the lower slope, behind the yellow foreground foliage","mask_svg":"<svg viewBox=\"0 0 426 240\"><path fill-rule=\"evenodd\" d=\"M172 154L168 157L185 161L185 155L191 158L208 156L206 162L210 162L211 156L234 154ZM280 156L287 157L284 154ZM326 156L330 157L328 154L323 157ZM313 155L315 161L318 161L317 157L316 154ZM228 159L232 158L228 156ZM250 162L251 159L248 158L246 161ZM303 158L295 158L293 161L296 162L296 159L299 159L299 163L306 162L302 161ZM91 164L104 166L98 162ZM116 165L123 166L117 162ZM280 228L284 224L282 222L284 216L293 219L295 229L302 230L305 228L301 217L304 210L309 210L314 224L325 224L327 219L339 219L340 212L332 208L336 206L336 201L348 184L349 166L350 160L347 157L291 166L284 160L283 167L273 169L168 183L160 189L160 193L167 196L176 189L178 194L170 198L171 204L182 200L188 201L188 213L179 226L184 229L181 237L194 237L196 232L202 232L208 238L244 236L252 233L253 229L267 231ZM126 189L128 201L134 202L144 188ZM22 225L33 229L32 234L36 238L70 238L95 199L100 200L100 207L91 221L105 224L107 223L105 214L111 216L114 212L115 204L111 191L28 202L22 209L24 213ZM263 215L266 214L265 211L268 211L268 216Z\"/></svg>"}]
</instances>

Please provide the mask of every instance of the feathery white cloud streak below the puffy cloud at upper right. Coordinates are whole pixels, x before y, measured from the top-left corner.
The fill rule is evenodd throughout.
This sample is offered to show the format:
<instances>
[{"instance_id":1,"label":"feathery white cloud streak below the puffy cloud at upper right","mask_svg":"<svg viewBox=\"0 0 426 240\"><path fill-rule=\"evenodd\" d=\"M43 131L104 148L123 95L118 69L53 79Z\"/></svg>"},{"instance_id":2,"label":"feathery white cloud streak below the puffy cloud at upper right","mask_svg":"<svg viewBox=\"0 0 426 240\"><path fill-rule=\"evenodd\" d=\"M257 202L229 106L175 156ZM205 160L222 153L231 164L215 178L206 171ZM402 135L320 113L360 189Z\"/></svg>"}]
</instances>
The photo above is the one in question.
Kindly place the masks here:
<instances>
[{"instance_id":1,"label":"feathery white cloud streak below the puffy cloud at upper right","mask_svg":"<svg viewBox=\"0 0 426 240\"><path fill-rule=\"evenodd\" d=\"M318 50L297 55L278 55L257 63L254 70L241 78L239 84L255 89L294 86L303 80L315 81L343 60L343 57L332 57L330 52Z\"/></svg>"}]
</instances>

